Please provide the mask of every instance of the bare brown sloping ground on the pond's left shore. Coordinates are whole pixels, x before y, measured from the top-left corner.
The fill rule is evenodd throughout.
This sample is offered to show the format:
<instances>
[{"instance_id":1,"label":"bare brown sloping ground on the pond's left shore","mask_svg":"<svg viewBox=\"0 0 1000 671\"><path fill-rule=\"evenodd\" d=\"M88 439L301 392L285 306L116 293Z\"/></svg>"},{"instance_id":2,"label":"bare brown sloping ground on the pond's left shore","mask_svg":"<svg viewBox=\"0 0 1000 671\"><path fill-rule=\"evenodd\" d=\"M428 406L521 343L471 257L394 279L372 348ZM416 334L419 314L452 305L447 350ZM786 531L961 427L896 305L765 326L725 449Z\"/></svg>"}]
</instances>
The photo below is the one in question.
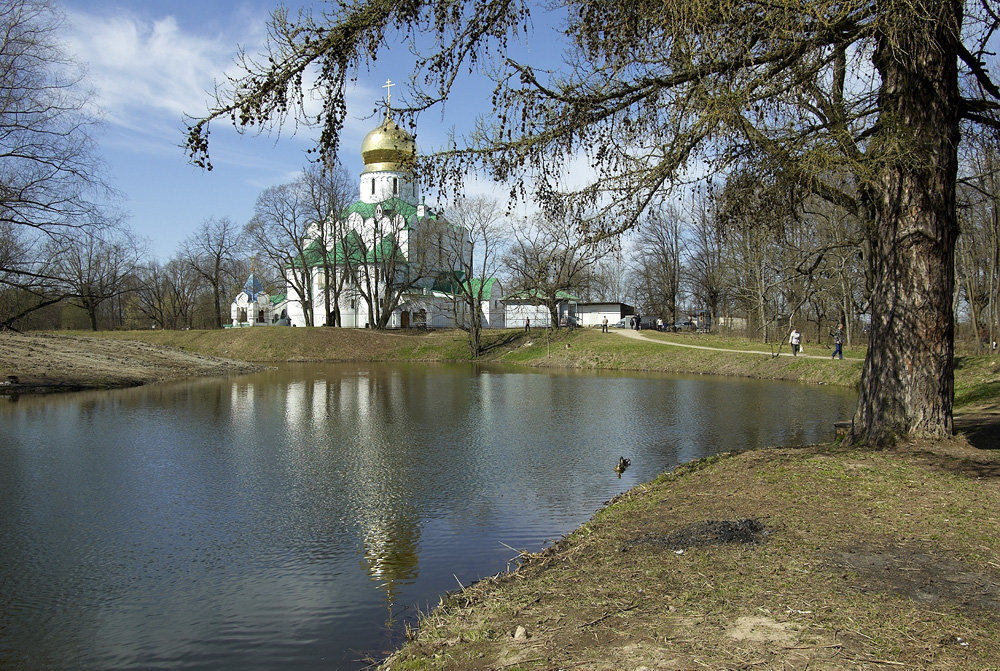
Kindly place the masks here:
<instances>
[{"instance_id":1,"label":"bare brown sloping ground on the pond's left shore","mask_svg":"<svg viewBox=\"0 0 1000 671\"><path fill-rule=\"evenodd\" d=\"M258 369L244 361L141 342L50 333L0 333L0 394L132 387Z\"/></svg>"}]
</instances>

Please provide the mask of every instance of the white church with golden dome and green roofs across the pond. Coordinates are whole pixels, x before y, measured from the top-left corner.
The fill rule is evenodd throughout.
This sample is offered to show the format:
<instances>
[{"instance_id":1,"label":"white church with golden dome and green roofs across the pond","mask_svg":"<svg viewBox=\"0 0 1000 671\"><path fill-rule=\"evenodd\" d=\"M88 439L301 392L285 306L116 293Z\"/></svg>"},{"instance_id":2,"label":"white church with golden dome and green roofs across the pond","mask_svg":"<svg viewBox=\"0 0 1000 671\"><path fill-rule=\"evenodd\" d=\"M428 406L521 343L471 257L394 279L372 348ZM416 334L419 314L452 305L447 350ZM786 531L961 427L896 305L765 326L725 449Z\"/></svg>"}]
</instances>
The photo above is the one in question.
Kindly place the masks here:
<instances>
[{"instance_id":1,"label":"white church with golden dome and green roofs across the pond","mask_svg":"<svg viewBox=\"0 0 1000 671\"><path fill-rule=\"evenodd\" d=\"M373 290L373 283L381 281L384 286L386 275L391 276L388 281L405 287L386 318L387 327L450 328L467 323L464 303L455 294L457 286L467 282L459 259L471 253L468 231L424 203L414 173L413 136L387 115L365 136L361 158L358 200L336 222L310 227L304 253L295 267L286 270L285 293L268 296L244 287L232 306L233 326L279 322L305 326L306 310L312 311L314 325L332 324L333 315L325 314L327 291L331 301L339 294L331 312L339 311L343 327L374 326L373 315L383 308L369 301L377 304L378 294L384 292ZM323 241L328 241L325 246ZM308 292L299 289L293 279L296 274L308 274L311 301L302 300L301 293ZM380 275L381 280L376 279ZM332 288L335 283L339 292ZM499 282L489 280L481 306L484 327L503 327L502 291Z\"/></svg>"}]
</instances>

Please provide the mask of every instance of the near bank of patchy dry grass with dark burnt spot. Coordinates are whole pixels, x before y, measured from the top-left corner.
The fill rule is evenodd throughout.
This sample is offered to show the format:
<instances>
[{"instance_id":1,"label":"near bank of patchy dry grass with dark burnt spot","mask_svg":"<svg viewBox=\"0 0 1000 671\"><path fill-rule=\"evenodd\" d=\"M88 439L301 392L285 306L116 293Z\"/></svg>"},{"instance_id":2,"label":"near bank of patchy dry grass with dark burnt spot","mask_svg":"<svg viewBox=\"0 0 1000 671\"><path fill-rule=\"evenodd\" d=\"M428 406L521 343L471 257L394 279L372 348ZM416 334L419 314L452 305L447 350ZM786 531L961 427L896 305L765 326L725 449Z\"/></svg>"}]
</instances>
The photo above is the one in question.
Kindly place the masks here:
<instances>
[{"instance_id":1,"label":"near bank of patchy dry grass with dark burnt spot","mask_svg":"<svg viewBox=\"0 0 1000 671\"><path fill-rule=\"evenodd\" d=\"M996 669L995 456L821 446L679 467L449 595L383 668Z\"/></svg>"}]
</instances>

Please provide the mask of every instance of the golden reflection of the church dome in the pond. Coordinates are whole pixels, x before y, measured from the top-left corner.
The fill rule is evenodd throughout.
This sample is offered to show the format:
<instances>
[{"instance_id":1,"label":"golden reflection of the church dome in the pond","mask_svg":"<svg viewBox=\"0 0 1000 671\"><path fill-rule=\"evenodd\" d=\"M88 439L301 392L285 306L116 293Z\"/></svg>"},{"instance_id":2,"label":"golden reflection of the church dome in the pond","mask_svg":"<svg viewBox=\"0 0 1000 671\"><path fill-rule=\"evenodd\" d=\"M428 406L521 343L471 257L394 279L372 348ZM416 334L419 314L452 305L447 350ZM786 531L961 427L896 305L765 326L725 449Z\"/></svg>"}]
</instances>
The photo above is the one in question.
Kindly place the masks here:
<instances>
[{"instance_id":1,"label":"golden reflection of the church dome in the pond","mask_svg":"<svg viewBox=\"0 0 1000 671\"><path fill-rule=\"evenodd\" d=\"M388 616L386 627L395 623L392 607L404 585L416 580L417 543L420 526L417 512L409 506L393 507L373 512L361 519L364 529L362 567L378 589L385 593Z\"/></svg>"}]
</instances>

